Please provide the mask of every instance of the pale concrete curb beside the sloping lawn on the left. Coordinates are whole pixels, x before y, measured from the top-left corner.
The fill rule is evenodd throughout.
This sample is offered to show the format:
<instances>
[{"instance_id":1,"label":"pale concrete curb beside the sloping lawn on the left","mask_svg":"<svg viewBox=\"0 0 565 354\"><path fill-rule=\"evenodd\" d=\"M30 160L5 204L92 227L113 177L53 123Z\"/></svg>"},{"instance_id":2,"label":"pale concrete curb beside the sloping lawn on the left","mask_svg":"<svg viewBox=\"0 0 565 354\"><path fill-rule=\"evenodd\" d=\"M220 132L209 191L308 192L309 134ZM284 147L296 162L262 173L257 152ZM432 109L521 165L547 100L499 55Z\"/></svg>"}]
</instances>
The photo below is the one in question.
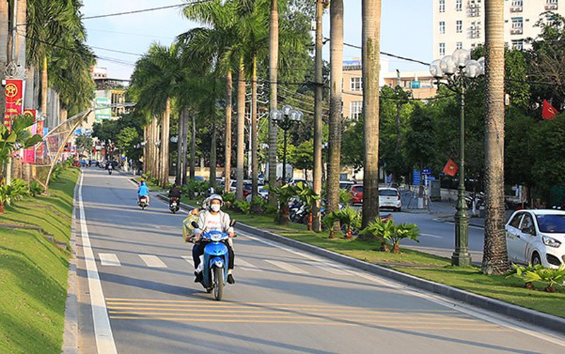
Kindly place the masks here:
<instances>
[{"instance_id":1,"label":"pale concrete curb beside the sloping lawn on the left","mask_svg":"<svg viewBox=\"0 0 565 354\"><path fill-rule=\"evenodd\" d=\"M82 172L78 175L81 178ZM74 201L76 201L78 181L75 185ZM73 205L73 219L71 222L71 260L69 260L69 288L65 302L65 324L63 333L62 354L78 353L78 283L76 278L76 205Z\"/></svg>"}]
</instances>

